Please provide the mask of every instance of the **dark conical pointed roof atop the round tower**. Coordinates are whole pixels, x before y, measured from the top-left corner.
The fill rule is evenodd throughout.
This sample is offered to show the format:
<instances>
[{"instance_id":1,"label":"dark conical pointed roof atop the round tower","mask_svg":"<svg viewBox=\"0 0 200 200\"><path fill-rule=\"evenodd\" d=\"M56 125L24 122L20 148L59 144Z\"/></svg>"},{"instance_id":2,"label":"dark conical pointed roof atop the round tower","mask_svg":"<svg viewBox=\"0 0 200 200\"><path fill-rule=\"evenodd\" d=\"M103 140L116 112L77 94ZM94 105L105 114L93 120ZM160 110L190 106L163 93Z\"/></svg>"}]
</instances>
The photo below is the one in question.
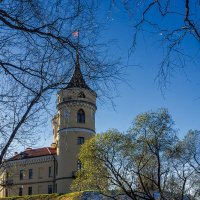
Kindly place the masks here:
<instances>
[{"instance_id":1,"label":"dark conical pointed roof atop the round tower","mask_svg":"<svg viewBox=\"0 0 200 200\"><path fill-rule=\"evenodd\" d=\"M68 88L85 88L88 90L91 90L90 87L86 84L81 69L80 69L80 62L79 62L79 54L76 54L76 64L75 64L75 69L74 69L74 73L73 76L70 80L70 82L68 83L68 85L65 87L65 89ZM91 90L92 91L92 90Z\"/></svg>"}]
</instances>

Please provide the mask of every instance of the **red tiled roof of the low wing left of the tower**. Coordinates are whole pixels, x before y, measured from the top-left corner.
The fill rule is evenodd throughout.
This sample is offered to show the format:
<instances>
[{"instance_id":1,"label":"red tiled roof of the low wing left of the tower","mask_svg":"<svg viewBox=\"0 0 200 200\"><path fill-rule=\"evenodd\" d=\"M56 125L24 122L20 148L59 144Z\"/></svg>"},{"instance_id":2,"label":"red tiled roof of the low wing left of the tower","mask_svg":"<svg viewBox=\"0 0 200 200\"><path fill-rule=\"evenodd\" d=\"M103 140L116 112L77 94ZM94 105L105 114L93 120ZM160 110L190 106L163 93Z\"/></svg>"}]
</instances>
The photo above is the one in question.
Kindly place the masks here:
<instances>
[{"instance_id":1,"label":"red tiled roof of the low wing left of the tower","mask_svg":"<svg viewBox=\"0 0 200 200\"><path fill-rule=\"evenodd\" d=\"M40 156L49 156L49 155L56 155L56 148L52 147L43 147L39 149L26 149L25 151L13 156L12 158L8 159L11 160L22 160Z\"/></svg>"}]
</instances>

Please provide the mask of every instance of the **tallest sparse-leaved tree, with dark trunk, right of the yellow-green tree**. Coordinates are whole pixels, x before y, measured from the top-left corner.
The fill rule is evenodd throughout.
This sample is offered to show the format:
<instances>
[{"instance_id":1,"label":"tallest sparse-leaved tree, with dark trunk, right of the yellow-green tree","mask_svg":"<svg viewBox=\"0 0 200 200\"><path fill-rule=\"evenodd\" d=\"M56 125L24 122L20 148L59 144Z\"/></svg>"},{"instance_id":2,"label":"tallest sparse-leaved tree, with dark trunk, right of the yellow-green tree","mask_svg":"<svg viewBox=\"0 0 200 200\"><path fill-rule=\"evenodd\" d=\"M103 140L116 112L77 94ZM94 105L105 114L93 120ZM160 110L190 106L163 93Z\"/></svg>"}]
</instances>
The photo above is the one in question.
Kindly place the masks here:
<instances>
[{"instance_id":1,"label":"tallest sparse-leaved tree, with dark trunk, right of the yellow-green tree","mask_svg":"<svg viewBox=\"0 0 200 200\"><path fill-rule=\"evenodd\" d=\"M142 191L160 191L169 171L168 151L178 138L174 122L166 109L138 115L129 130L135 145L132 160L139 172L138 186Z\"/></svg>"}]
</instances>

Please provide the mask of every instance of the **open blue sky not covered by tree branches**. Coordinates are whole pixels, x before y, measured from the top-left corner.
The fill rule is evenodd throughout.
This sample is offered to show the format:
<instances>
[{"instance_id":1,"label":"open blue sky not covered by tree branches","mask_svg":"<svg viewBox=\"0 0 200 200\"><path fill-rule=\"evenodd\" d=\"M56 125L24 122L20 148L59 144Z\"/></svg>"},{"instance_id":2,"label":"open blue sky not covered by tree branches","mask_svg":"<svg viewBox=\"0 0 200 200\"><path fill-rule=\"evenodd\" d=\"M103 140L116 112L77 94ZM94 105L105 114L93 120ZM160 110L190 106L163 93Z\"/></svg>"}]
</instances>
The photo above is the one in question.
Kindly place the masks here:
<instances>
[{"instance_id":1,"label":"open blue sky not covered by tree branches","mask_svg":"<svg viewBox=\"0 0 200 200\"><path fill-rule=\"evenodd\" d=\"M155 111L161 107L169 110L180 137L183 137L189 129L200 130L200 58L197 56L199 43L191 38L186 39L183 50L195 59L186 59L185 68L176 69L163 95L158 82L155 81L164 55L163 46L159 43L162 35L157 33L152 36L146 32L140 34L135 51L128 58L133 36L132 22L122 7L108 12L108 7L105 7L105 4L102 6L100 14L108 22L108 26L100 40L103 42L114 40L108 43L108 51L115 58L121 57L122 65L128 64L128 66L126 82L117 84L118 90L113 99L115 108L110 102L102 103L101 99L97 101L96 132L101 133L110 128L125 132L130 128L136 115L150 110ZM155 17L157 16L153 16ZM179 19L173 21L168 19L165 22L165 26L168 27L171 23L179 22ZM51 106L54 110L56 102ZM52 142L50 120L41 146Z\"/></svg>"}]
</instances>

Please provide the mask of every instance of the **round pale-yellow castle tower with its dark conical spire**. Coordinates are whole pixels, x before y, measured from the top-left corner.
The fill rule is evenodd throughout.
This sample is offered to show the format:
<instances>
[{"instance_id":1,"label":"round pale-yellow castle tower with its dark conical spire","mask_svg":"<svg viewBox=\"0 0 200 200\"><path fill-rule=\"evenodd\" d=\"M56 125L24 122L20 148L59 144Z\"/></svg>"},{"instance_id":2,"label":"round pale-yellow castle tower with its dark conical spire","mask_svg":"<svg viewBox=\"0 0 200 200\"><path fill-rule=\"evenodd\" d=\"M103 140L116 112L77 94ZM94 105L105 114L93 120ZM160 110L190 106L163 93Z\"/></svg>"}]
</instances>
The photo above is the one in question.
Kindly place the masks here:
<instances>
[{"instance_id":1,"label":"round pale-yellow castle tower with its dark conical spire","mask_svg":"<svg viewBox=\"0 0 200 200\"><path fill-rule=\"evenodd\" d=\"M57 144L57 193L69 192L75 173L81 168L81 144L95 134L96 93L85 83L79 64L66 88L58 93L57 115L53 118Z\"/></svg>"}]
</instances>

